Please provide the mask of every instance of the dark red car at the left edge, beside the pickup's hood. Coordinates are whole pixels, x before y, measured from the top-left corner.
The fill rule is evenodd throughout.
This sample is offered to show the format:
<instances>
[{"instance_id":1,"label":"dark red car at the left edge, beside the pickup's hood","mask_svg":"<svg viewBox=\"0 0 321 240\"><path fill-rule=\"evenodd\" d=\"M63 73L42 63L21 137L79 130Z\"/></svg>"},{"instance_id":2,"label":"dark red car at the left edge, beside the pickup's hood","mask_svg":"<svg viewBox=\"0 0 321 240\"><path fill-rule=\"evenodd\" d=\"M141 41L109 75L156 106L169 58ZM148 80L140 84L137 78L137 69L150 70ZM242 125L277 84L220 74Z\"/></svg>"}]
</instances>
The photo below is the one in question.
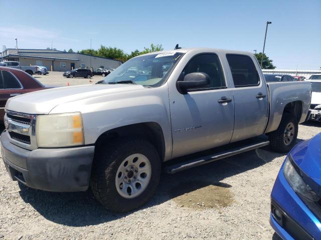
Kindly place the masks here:
<instances>
[{"instance_id":1,"label":"dark red car at the left edge, beside the pickup's hood","mask_svg":"<svg viewBox=\"0 0 321 240\"><path fill-rule=\"evenodd\" d=\"M23 70L0 66L0 123L3 123L6 102L10 97L52 87L45 86Z\"/></svg>"}]
</instances>

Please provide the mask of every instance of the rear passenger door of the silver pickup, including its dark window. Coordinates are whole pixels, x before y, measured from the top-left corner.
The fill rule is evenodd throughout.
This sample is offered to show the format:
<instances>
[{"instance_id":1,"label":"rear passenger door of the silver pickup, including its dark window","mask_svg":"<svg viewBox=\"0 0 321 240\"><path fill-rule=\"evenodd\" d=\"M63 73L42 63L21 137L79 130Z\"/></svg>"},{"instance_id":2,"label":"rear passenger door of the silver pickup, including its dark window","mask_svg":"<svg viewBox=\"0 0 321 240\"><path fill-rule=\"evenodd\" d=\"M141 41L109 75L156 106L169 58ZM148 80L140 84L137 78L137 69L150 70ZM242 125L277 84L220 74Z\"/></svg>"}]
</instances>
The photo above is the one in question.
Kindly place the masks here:
<instances>
[{"instance_id":1,"label":"rear passenger door of the silver pickup, including its dark window","mask_svg":"<svg viewBox=\"0 0 321 240\"><path fill-rule=\"evenodd\" d=\"M263 76L255 59L248 55L226 54L232 75L235 123L231 142L261 135L268 115L268 97Z\"/></svg>"}]
</instances>

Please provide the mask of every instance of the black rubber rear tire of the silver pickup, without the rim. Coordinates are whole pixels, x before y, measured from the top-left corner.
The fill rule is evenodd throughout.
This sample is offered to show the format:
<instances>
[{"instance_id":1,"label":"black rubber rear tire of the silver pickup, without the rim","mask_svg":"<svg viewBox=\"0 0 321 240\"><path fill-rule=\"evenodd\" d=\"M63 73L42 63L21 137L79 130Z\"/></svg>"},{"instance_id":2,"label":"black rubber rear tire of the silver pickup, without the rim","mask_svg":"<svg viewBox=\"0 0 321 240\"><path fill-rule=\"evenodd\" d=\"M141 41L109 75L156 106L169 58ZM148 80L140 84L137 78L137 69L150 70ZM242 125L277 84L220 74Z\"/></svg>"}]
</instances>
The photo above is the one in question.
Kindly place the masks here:
<instances>
[{"instance_id":1,"label":"black rubber rear tire of the silver pickup, without the rim","mask_svg":"<svg viewBox=\"0 0 321 240\"><path fill-rule=\"evenodd\" d=\"M292 135L292 140L288 144L285 143L285 131L286 127L292 123L294 127L294 132ZM298 123L296 117L290 113L283 113L281 122L278 128L275 131L272 131L268 134L269 141L273 150L277 152L288 152L296 143L298 131ZM288 138L289 139L289 138Z\"/></svg>"}]
</instances>

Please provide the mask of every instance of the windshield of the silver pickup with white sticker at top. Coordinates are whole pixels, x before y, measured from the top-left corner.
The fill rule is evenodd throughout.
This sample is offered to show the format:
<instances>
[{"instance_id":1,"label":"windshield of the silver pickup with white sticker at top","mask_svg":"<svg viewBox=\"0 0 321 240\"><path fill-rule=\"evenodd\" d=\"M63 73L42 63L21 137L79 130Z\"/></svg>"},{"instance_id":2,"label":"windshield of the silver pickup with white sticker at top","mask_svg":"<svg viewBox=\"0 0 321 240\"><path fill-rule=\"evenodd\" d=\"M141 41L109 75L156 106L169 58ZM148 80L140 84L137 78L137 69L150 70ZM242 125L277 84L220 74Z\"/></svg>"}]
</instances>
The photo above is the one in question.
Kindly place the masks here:
<instances>
[{"instance_id":1,"label":"windshield of the silver pickup with white sticker at top","mask_svg":"<svg viewBox=\"0 0 321 240\"><path fill-rule=\"evenodd\" d=\"M111 71L102 83L133 83L143 86L160 86L166 80L182 52L165 52L134 57Z\"/></svg>"}]
</instances>

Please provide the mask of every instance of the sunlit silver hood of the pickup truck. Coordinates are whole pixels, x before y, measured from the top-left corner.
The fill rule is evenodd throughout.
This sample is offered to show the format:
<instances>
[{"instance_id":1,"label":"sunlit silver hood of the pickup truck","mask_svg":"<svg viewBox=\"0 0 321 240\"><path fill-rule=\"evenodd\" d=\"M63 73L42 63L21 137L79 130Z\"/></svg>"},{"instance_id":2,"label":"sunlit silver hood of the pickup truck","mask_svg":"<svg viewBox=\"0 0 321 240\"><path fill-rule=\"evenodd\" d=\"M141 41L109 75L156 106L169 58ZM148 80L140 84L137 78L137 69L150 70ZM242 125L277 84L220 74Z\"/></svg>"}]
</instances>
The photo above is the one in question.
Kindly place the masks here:
<instances>
[{"instance_id":1,"label":"sunlit silver hood of the pickup truck","mask_svg":"<svg viewBox=\"0 0 321 240\"><path fill-rule=\"evenodd\" d=\"M62 103L141 89L144 89L142 85L133 84L95 84L57 87L9 98L6 109L29 114L48 114L55 106Z\"/></svg>"}]
</instances>

